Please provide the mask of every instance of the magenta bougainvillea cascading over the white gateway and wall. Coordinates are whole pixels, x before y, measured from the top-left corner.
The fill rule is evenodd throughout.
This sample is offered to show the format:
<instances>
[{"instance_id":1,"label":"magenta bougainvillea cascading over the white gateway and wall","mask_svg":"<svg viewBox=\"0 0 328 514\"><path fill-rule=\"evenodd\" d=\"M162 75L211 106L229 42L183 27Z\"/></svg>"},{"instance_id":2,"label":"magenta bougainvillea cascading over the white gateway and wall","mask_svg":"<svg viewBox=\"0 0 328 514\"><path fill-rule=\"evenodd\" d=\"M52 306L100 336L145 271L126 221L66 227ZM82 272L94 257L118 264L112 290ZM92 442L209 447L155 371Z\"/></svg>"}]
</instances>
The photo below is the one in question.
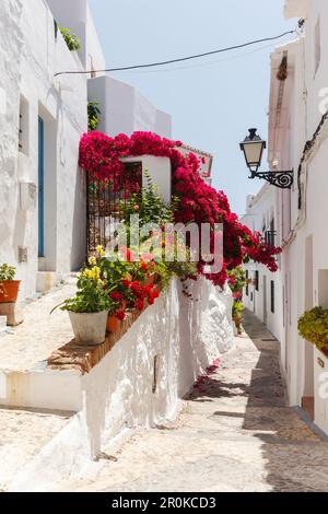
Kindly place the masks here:
<instances>
[{"instance_id":1,"label":"magenta bougainvillea cascading over the white gateway and wall","mask_svg":"<svg viewBox=\"0 0 328 514\"><path fill-rule=\"evenodd\" d=\"M81 140L80 166L87 171L94 180L120 187L124 176L121 157L168 157L173 172L173 194L179 198L175 210L176 222L196 222L199 225L223 223L223 268L220 273L207 274L204 264L199 262L199 272L206 274L214 284L224 285L227 270L249 259L277 271L276 256L281 249L267 245L259 233L251 233L238 221L238 217L231 211L224 192L218 191L201 177L201 160L194 153L184 156L179 151L181 144L180 141L171 141L152 132L134 132L131 137L118 135L114 138L91 132L84 135ZM211 237L213 247L214 232Z\"/></svg>"}]
</instances>

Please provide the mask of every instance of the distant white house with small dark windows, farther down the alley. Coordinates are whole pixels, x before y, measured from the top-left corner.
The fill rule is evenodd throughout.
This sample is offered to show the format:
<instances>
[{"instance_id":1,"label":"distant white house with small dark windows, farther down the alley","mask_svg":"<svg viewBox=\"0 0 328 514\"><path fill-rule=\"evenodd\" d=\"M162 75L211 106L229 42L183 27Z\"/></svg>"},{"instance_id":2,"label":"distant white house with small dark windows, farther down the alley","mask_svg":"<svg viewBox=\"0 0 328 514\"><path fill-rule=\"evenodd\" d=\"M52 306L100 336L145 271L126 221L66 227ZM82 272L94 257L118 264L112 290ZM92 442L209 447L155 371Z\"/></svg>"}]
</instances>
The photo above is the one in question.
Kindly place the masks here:
<instances>
[{"instance_id":1,"label":"distant white house with small dark windows, farther down the alley","mask_svg":"<svg viewBox=\"0 0 328 514\"><path fill-rule=\"evenodd\" d=\"M257 195L248 195L246 214L242 223L253 232L260 232L268 244L279 246L281 234L277 223L276 197L276 189L268 184L265 184ZM251 280L251 283L244 290L243 303L268 326L278 340L281 340L282 296L279 257L277 261L279 270L276 273L254 261L244 266L246 278Z\"/></svg>"}]
</instances>

